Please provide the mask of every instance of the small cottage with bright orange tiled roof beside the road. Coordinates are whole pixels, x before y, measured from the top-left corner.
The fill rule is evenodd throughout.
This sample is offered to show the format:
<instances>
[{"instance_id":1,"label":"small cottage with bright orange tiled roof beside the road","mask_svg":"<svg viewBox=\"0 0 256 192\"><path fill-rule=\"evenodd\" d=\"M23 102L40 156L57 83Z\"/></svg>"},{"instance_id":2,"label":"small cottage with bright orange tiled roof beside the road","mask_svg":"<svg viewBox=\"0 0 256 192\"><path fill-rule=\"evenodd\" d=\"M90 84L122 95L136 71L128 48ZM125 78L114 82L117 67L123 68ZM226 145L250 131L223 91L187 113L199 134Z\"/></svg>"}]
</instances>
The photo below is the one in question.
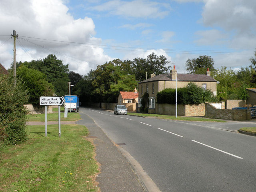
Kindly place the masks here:
<instances>
[{"instance_id":1,"label":"small cottage with bright orange tiled roof beside the road","mask_svg":"<svg viewBox=\"0 0 256 192\"><path fill-rule=\"evenodd\" d=\"M138 96L139 93L137 92L137 89L135 88L134 91L120 91L118 96L118 104L124 104L124 103L138 103Z\"/></svg>"}]
</instances>

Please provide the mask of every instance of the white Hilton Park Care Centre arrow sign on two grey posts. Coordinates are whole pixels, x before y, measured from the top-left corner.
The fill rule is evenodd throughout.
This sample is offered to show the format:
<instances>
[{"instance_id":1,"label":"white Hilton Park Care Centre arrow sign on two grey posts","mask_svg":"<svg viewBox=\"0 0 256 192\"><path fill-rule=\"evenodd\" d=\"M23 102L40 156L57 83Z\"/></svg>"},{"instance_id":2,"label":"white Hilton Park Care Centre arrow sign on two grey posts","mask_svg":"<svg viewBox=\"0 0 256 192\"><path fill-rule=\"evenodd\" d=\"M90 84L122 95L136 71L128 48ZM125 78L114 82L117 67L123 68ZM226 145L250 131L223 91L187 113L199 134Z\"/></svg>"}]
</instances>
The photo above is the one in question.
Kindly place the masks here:
<instances>
[{"instance_id":1,"label":"white Hilton Park Care Centre arrow sign on two grey posts","mask_svg":"<svg viewBox=\"0 0 256 192\"><path fill-rule=\"evenodd\" d=\"M60 106L64 104L65 100L62 96L42 96L40 97L40 105L45 106L45 137L47 137L47 106L58 105L58 125L59 125L59 137L60 137Z\"/></svg>"}]
</instances>

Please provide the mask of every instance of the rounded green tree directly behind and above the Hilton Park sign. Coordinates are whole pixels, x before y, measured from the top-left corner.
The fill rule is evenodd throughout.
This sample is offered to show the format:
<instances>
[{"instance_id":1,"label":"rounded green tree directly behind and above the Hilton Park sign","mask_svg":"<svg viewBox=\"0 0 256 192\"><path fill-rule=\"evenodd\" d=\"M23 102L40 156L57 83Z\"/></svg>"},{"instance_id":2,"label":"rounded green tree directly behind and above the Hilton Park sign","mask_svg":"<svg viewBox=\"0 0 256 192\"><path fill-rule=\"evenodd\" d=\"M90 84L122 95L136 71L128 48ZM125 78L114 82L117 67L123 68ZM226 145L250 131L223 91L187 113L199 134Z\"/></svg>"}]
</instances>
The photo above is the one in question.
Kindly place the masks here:
<instances>
[{"instance_id":1,"label":"rounded green tree directly behind and above the Hilton Park sign","mask_svg":"<svg viewBox=\"0 0 256 192\"><path fill-rule=\"evenodd\" d=\"M39 105L40 96L52 96L54 88L48 83L46 74L21 65L17 69L17 77L22 80L25 88L28 90L30 102L33 105Z\"/></svg>"}]
</instances>

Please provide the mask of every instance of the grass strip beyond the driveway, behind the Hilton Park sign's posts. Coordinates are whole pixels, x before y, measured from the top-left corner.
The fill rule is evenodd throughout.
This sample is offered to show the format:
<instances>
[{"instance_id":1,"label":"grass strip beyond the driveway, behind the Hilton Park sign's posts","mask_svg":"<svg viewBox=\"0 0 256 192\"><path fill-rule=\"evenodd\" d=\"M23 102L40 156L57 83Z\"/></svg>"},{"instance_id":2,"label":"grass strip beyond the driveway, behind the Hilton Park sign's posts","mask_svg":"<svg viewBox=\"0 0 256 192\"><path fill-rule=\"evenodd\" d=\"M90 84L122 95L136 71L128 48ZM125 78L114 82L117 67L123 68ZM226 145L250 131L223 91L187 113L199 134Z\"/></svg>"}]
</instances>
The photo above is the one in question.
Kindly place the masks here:
<instances>
[{"instance_id":1,"label":"grass strip beyond the driveway, behind the Hilton Park sign's posts","mask_svg":"<svg viewBox=\"0 0 256 192\"><path fill-rule=\"evenodd\" d=\"M58 111L58 108L57 108ZM28 121L44 121L45 114L32 114L27 115ZM47 121L58 121L58 113L48 113L47 114ZM80 120L80 114L75 112L68 112L68 117L64 118L64 112L60 112L60 120L61 121L77 121Z\"/></svg>"}]
</instances>

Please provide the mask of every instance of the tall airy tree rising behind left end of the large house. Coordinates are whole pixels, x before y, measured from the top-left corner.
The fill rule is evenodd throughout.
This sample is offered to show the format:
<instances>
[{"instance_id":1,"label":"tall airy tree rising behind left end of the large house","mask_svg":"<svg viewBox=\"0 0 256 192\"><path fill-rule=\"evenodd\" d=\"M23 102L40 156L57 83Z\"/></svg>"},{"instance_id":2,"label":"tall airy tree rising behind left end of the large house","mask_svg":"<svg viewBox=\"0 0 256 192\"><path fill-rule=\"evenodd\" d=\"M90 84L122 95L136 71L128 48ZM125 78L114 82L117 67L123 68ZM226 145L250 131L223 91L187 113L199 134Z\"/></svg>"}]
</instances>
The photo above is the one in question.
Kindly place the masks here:
<instances>
[{"instance_id":1,"label":"tall airy tree rising behind left end of the large house","mask_svg":"<svg viewBox=\"0 0 256 192\"><path fill-rule=\"evenodd\" d=\"M152 53L147 58L135 58L132 61L132 74L135 75L136 80L142 81L150 77L150 74L156 75L169 73L171 62L165 56L157 56Z\"/></svg>"}]
</instances>

